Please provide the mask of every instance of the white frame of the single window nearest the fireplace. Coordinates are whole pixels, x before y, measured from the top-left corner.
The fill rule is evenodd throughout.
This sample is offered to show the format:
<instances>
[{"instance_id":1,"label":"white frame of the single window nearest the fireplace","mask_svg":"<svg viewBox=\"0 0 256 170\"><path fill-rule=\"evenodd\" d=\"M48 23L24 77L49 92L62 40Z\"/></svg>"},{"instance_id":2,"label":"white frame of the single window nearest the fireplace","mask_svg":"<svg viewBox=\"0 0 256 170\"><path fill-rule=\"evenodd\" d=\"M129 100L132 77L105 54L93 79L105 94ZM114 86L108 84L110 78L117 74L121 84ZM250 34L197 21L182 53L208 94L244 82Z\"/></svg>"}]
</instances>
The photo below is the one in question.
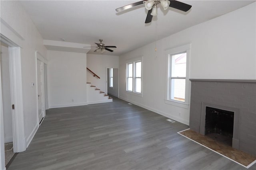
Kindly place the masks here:
<instances>
[{"instance_id":1,"label":"white frame of the single window nearest the fireplace","mask_svg":"<svg viewBox=\"0 0 256 170\"><path fill-rule=\"evenodd\" d=\"M165 103L186 108L189 107L189 95L190 95L190 48L191 44L182 45L180 47L175 47L172 49L166 50L166 94L165 94ZM185 102L171 99L172 91L172 82L171 82L171 69L172 69L172 56L180 53L186 53L186 80L185 84ZM175 78L175 77L174 77Z\"/></svg>"}]
</instances>

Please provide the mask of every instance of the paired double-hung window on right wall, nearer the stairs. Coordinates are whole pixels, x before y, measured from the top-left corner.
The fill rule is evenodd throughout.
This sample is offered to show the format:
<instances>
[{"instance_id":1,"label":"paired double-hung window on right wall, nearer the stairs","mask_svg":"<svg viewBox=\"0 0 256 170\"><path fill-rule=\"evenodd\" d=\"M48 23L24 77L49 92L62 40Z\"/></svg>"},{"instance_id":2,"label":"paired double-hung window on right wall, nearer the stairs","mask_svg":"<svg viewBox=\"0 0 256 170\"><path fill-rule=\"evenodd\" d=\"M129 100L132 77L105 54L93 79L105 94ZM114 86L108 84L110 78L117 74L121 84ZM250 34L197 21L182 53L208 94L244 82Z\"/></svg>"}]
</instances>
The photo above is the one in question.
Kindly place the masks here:
<instances>
[{"instance_id":1,"label":"paired double-hung window on right wall, nearer the stairs","mask_svg":"<svg viewBox=\"0 0 256 170\"><path fill-rule=\"evenodd\" d=\"M126 90L141 94L142 87L142 61L133 61L126 65Z\"/></svg>"}]
</instances>

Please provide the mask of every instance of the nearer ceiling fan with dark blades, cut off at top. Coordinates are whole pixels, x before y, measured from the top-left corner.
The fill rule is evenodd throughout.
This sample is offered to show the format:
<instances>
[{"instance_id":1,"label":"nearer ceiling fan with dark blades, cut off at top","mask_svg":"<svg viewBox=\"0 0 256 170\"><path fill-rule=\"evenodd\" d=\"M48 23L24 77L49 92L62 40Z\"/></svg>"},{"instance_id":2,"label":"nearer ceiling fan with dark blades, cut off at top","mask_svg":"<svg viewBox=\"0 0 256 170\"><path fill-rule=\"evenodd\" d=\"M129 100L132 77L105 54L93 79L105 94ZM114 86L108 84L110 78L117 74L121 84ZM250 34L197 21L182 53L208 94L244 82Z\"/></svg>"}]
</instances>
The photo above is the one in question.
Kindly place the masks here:
<instances>
[{"instance_id":1,"label":"nearer ceiling fan with dark blades, cut off at top","mask_svg":"<svg viewBox=\"0 0 256 170\"><path fill-rule=\"evenodd\" d=\"M150 23L153 16L157 16L158 4L160 4L164 8L164 10L166 10L168 6L170 6L184 12L187 12L192 7L191 5L176 0L142 0L126 6L122 6L120 8L116 8L116 12L121 12L142 4L145 4L145 8L148 10L148 15L146 17L145 23Z\"/></svg>"}]
</instances>

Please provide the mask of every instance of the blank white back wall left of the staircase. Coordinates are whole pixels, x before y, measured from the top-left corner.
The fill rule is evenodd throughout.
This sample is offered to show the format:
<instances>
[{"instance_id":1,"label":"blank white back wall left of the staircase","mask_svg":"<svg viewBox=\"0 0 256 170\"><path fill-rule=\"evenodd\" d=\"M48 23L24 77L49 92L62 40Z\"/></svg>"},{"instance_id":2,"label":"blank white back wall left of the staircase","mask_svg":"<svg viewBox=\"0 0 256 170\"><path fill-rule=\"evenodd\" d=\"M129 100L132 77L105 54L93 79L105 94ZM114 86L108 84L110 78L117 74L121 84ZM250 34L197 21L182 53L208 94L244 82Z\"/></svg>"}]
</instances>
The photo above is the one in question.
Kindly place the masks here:
<instances>
[{"instance_id":1,"label":"blank white back wall left of the staircase","mask_svg":"<svg viewBox=\"0 0 256 170\"><path fill-rule=\"evenodd\" d=\"M49 107L86 105L86 54L47 51L47 56Z\"/></svg>"}]
</instances>

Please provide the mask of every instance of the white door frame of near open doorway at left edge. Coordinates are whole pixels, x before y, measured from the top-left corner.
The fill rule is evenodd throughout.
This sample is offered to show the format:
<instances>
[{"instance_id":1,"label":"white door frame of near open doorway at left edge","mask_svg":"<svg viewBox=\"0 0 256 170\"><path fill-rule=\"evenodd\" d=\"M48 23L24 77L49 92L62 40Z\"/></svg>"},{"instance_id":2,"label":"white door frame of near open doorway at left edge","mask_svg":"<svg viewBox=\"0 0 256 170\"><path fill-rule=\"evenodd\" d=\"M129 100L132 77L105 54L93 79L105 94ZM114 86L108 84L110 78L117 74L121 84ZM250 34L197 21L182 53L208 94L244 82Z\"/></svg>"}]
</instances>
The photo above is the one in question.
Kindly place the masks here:
<instances>
[{"instance_id":1,"label":"white door frame of near open doorway at left edge","mask_svg":"<svg viewBox=\"0 0 256 170\"><path fill-rule=\"evenodd\" d=\"M23 152L26 150L26 141L24 133L20 47L4 35L0 34L0 37L1 41L9 46L11 102L15 107L15 109L12 109L13 151ZM2 86L0 90L2 94ZM1 108L1 117L2 114L3 112ZM0 137L4 139L4 134L1 134Z\"/></svg>"}]
</instances>

